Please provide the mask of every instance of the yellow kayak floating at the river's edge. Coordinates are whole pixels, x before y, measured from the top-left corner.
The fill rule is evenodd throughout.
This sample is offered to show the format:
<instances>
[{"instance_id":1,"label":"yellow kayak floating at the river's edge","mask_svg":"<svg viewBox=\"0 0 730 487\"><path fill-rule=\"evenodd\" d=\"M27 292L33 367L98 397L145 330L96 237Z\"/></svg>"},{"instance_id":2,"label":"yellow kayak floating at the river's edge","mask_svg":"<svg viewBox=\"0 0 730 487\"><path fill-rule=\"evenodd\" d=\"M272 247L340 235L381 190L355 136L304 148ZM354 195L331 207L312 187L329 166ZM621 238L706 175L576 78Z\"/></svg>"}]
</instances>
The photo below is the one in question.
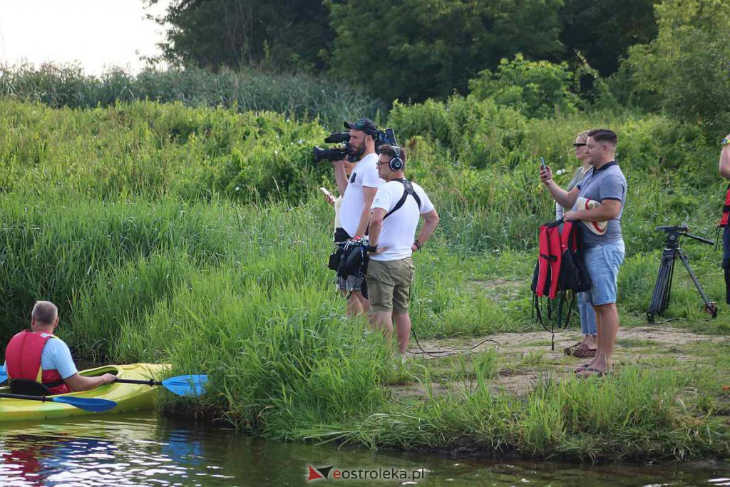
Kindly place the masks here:
<instances>
[{"instance_id":1,"label":"yellow kayak floating at the river's edge","mask_svg":"<svg viewBox=\"0 0 730 487\"><path fill-rule=\"evenodd\" d=\"M94 376L111 373L120 379L159 380L170 369L166 364L129 364L106 365L95 369L82 370L80 375ZM58 394L55 397L79 397L90 399L107 399L117 403L109 413L123 413L152 409L155 407L157 388L146 384L111 383L91 391ZM9 393L9 387L0 387L0 393ZM0 398L0 423L6 421L36 421L53 418L69 418L71 416L89 415L88 411L61 402L28 401L25 399Z\"/></svg>"}]
</instances>

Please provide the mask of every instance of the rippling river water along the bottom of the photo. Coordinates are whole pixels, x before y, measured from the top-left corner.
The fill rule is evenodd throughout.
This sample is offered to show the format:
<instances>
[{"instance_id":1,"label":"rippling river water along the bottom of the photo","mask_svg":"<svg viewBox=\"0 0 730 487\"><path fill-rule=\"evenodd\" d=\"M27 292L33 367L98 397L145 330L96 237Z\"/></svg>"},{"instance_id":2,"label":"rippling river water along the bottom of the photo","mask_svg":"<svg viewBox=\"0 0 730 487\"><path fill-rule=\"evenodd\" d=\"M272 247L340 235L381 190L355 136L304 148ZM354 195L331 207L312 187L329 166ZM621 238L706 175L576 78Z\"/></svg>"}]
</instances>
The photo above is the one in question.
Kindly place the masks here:
<instances>
[{"instance_id":1,"label":"rippling river water along the bottom of the photo","mask_svg":"<svg viewBox=\"0 0 730 487\"><path fill-rule=\"evenodd\" d=\"M391 479L373 480L376 475ZM327 484L730 486L730 464L591 465L373 453L266 442L224 424L191 426L153 412L0 426L3 487Z\"/></svg>"}]
</instances>

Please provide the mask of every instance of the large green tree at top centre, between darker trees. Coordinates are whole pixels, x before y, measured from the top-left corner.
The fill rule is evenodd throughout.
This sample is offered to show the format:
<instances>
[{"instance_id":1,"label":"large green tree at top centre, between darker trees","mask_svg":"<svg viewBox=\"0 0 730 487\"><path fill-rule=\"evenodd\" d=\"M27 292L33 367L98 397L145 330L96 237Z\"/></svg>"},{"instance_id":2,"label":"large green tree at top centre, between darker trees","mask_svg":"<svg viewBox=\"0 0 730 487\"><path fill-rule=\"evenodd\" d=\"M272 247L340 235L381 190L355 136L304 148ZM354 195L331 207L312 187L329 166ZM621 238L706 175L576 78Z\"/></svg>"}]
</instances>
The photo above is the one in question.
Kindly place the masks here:
<instances>
[{"instance_id":1,"label":"large green tree at top centre, between darker trees","mask_svg":"<svg viewBox=\"0 0 730 487\"><path fill-rule=\"evenodd\" d=\"M562 0L347 0L331 6L331 72L382 99L466 91L469 78L521 52L561 53Z\"/></svg>"}]
</instances>

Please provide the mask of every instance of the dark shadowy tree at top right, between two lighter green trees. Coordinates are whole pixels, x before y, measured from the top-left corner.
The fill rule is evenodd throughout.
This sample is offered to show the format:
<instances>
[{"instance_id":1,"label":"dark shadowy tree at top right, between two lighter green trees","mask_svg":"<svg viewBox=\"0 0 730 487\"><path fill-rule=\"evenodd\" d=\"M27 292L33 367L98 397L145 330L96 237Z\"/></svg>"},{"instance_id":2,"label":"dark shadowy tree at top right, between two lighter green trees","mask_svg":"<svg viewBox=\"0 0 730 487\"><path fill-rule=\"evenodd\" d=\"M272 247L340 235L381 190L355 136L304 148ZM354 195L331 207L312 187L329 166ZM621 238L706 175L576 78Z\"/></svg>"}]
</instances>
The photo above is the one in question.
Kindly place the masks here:
<instances>
[{"instance_id":1,"label":"dark shadowy tree at top right, between two lighter green trees","mask_svg":"<svg viewBox=\"0 0 730 487\"><path fill-rule=\"evenodd\" d=\"M629 47L656 38L654 4L657 0L565 0L560 11L560 39L566 55L575 50L602 76L618 70Z\"/></svg>"}]
</instances>

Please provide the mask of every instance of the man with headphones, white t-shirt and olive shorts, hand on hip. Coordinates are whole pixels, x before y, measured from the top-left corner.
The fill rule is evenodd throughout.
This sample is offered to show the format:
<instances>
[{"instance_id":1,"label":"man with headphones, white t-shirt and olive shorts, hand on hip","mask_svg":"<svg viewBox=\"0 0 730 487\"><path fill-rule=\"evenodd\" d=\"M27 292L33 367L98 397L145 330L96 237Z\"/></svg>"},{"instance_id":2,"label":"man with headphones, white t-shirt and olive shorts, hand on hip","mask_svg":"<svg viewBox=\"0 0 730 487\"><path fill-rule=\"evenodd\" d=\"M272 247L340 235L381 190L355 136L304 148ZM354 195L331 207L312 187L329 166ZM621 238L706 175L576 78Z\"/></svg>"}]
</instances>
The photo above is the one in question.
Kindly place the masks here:
<instances>
[{"instance_id":1,"label":"man with headphones, white t-shirt and olive shorts, hand on hip","mask_svg":"<svg viewBox=\"0 0 730 487\"><path fill-rule=\"evenodd\" d=\"M377 190L372 203L367 269L370 323L382 329L390 340L395 322L401 356L408 348L411 327L408 314L413 283L411 255L426 243L439 223L439 215L423 188L406 179L405 165L403 148L380 147L377 166L385 183ZM425 222L418 238L414 238L421 216Z\"/></svg>"}]
</instances>

